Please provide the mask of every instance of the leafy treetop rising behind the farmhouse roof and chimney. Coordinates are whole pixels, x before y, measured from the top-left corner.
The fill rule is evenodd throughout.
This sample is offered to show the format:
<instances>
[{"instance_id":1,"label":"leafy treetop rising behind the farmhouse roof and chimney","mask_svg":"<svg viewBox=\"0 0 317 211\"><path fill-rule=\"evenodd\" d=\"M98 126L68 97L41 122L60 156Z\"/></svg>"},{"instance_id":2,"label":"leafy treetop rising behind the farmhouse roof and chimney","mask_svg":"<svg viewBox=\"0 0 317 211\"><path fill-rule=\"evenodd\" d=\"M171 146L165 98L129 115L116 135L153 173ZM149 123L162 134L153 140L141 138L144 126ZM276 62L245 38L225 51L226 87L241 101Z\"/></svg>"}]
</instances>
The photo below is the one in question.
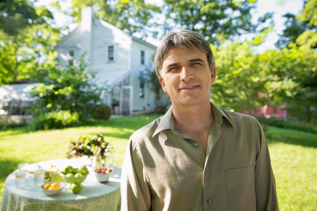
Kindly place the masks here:
<instances>
[{"instance_id":1,"label":"leafy treetop rising behind the farmhouse roof and chimney","mask_svg":"<svg viewBox=\"0 0 317 211\"><path fill-rule=\"evenodd\" d=\"M60 9L58 2L53 4ZM72 0L69 10L64 11L66 15L73 17L75 23L81 21L81 10L83 7L94 8L95 17L102 19L125 32L145 39L151 34L152 28L157 26L155 21L150 21L154 14L160 13L160 8L146 4L143 0Z\"/></svg>"}]
</instances>

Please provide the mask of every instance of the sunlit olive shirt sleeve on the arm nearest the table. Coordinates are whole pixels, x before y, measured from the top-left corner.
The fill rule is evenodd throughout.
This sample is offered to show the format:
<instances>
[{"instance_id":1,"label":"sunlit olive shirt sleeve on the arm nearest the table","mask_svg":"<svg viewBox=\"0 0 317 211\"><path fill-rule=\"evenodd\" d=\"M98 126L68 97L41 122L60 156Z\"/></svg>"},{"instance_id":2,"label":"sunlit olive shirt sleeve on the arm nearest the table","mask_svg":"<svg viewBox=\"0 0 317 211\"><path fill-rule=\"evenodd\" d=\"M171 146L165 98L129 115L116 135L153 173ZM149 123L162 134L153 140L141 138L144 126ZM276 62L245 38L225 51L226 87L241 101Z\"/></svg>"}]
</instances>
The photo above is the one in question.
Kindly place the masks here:
<instances>
[{"instance_id":1,"label":"sunlit olive shirt sleeve on the arm nearest the table","mask_svg":"<svg viewBox=\"0 0 317 211\"><path fill-rule=\"evenodd\" d=\"M142 159L130 139L121 175L121 211L147 211L151 206Z\"/></svg>"}]
</instances>

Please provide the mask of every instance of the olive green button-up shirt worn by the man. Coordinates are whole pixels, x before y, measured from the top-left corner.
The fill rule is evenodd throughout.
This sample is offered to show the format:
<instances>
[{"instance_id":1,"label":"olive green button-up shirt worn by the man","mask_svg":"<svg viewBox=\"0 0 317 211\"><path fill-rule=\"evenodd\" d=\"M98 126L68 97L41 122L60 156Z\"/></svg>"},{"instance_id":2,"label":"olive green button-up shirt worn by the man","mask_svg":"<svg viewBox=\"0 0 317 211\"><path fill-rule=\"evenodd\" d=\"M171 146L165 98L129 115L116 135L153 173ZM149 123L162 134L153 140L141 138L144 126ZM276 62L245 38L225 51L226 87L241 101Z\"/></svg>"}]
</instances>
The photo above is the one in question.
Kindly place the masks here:
<instances>
[{"instance_id":1,"label":"olive green button-up shirt worn by the man","mask_svg":"<svg viewBox=\"0 0 317 211\"><path fill-rule=\"evenodd\" d=\"M264 133L252 116L211 103L207 153L175 129L172 107L130 138L121 210L275 211L275 181Z\"/></svg>"}]
</instances>

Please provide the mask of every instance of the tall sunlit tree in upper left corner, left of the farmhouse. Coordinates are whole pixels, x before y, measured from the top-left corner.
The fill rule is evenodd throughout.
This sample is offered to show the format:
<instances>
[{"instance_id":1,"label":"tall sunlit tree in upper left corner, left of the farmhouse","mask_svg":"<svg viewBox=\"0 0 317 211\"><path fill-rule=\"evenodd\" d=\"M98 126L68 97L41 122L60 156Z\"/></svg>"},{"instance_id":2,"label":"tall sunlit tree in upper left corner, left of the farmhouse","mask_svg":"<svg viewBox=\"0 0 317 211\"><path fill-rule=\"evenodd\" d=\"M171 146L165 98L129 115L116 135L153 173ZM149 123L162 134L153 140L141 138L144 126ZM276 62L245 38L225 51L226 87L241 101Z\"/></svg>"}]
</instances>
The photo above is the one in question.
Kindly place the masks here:
<instances>
[{"instance_id":1,"label":"tall sunlit tree in upper left corner, left of the farmhouse","mask_svg":"<svg viewBox=\"0 0 317 211\"><path fill-rule=\"evenodd\" d=\"M0 2L0 85L37 80L54 65L53 47L60 39L53 16L28 0Z\"/></svg>"}]
</instances>

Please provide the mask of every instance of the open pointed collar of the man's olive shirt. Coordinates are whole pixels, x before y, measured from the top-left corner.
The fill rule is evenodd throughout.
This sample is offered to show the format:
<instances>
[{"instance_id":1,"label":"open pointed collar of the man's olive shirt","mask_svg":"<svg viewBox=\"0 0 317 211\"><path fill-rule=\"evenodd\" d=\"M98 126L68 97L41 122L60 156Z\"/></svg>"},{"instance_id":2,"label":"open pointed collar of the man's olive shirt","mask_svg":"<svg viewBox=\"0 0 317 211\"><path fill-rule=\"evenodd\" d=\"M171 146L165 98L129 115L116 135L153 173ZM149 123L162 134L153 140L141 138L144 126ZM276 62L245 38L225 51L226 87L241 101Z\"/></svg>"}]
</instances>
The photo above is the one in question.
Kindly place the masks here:
<instances>
[{"instance_id":1,"label":"open pointed collar of the man's olive shirt","mask_svg":"<svg viewBox=\"0 0 317 211\"><path fill-rule=\"evenodd\" d=\"M211 109L214 113L216 123L222 124L223 119L225 119L233 126L232 122L230 121L230 119L228 118L228 116L226 115L226 113L223 111L222 108L217 107L212 102L210 102L210 104L211 104ZM169 110L162 116L159 125L157 125L157 128L153 133L153 137L164 130L168 130L168 129L172 131L176 130L172 109L173 109L173 106L171 106Z\"/></svg>"}]
</instances>

